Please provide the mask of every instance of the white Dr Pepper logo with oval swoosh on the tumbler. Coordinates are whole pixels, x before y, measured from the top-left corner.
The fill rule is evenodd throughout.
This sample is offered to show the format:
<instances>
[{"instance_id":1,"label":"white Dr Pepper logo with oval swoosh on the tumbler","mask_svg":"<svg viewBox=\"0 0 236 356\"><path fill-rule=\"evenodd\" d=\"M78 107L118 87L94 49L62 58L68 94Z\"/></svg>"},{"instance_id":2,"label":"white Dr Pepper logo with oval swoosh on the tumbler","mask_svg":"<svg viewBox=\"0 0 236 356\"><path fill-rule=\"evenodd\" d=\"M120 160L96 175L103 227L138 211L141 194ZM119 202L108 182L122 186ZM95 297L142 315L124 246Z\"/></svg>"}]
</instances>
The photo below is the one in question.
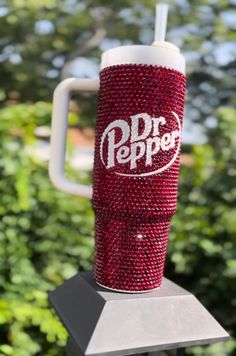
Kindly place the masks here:
<instances>
[{"instance_id":1,"label":"white Dr Pepper logo with oval swoosh on the tumbler","mask_svg":"<svg viewBox=\"0 0 236 356\"><path fill-rule=\"evenodd\" d=\"M122 176L143 177L168 169L180 150L181 123L172 111L168 119L147 113L115 120L103 131L100 158L107 169Z\"/></svg>"}]
</instances>

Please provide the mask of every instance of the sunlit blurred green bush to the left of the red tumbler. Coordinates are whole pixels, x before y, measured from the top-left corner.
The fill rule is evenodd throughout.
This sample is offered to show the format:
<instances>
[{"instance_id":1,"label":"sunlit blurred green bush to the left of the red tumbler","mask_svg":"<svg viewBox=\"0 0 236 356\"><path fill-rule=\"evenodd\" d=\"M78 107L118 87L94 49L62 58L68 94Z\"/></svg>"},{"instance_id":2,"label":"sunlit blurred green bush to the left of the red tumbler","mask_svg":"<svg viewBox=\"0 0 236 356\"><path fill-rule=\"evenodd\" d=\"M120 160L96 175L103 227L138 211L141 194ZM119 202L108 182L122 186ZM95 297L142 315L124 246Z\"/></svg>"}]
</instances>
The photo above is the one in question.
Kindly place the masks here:
<instances>
[{"instance_id":1,"label":"sunlit blurred green bush to the left of the red tumbler","mask_svg":"<svg viewBox=\"0 0 236 356\"><path fill-rule=\"evenodd\" d=\"M91 268L93 213L88 200L54 189L33 154L34 130L49 124L51 104L7 107L0 116L0 354L59 355L66 332L47 292Z\"/></svg>"}]
</instances>

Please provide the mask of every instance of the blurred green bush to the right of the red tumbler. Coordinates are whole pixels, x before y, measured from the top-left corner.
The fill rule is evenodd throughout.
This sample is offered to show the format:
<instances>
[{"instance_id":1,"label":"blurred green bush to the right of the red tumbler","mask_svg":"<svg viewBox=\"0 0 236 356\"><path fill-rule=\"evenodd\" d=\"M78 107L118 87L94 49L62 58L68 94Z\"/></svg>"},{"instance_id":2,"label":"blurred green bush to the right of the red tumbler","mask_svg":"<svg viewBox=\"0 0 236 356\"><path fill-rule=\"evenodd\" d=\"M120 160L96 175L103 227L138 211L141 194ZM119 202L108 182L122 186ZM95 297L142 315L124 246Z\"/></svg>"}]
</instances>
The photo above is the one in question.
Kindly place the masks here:
<instances>
[{"instance_id":1,"label":"blurred green bush to the right of the red tumbler","mask_svg":"<svg viewBox=\"0 0 236 356\"><path fill-rule=\"evenodd\" d=\"M209 144L194 146L183 166L166 273L188 287L232 336L226 345L194 348L196 355L229 355L236 348L236 110L220 107Z\"/></svg>"}]
</instances>

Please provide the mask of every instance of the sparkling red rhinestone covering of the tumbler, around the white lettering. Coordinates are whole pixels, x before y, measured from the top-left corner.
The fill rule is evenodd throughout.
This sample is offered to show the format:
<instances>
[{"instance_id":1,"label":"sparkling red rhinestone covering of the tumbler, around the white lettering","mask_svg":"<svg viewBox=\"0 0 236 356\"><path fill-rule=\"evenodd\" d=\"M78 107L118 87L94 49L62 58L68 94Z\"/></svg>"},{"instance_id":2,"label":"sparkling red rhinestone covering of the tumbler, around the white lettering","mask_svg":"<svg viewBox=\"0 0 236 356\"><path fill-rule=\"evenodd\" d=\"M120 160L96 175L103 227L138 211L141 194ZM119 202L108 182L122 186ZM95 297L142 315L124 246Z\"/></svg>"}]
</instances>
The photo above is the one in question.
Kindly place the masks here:
<instances>
[{"instance_id":1,"label":"sparkling red rhinestone covering of the tumbler, around the white lettering","mask_svg":"<svg viewBox=\"0 0 236 356\"><path fill-rule=\"evenodd\" d=\"M181 138L176 138L172 149L160 149L153 155L151 164L143 155L131 169L130 162L106 166L102 158L108 155L108 143L104 141L101 151L102 135L115 120L131 125L130 117L140 113L166 119L159 126L160 137L178 130L173 112L182 126L185 86L182 73L165 67L129 64L101 71L92 200L96 216L94 274L108 288L135 292L161 284L176 210ZM139 127L140 132L142 129ZM115 131L116 143L121 140L120 131ZM128 148L131 144L130 138L124 143ZM165 166L168 168L152 174Z\"/></svg>"}]
</instances>

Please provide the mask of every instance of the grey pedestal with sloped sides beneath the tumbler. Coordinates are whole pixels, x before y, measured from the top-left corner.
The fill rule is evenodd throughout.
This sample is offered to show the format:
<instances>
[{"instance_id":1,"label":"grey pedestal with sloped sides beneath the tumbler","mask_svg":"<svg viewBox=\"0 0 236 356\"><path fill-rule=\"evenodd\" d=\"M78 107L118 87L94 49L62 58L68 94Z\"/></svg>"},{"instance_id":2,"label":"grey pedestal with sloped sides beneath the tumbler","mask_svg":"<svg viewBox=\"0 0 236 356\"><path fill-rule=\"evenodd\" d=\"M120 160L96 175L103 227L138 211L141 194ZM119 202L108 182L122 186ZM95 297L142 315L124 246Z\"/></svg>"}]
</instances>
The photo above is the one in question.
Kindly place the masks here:
<instances>
[{"instance_id":1,"label":"grey pedestal with sloped sides beneath the tumbler","mask_svg":"<svg viewBox=\"0 0 236 356\"><path fill-rule=\"evenodd\" d=\"M68 356L180 356L186 346L229 337L193 294L166 278L153 292L128 294L102 288L82 272L49 300L69 332Z\"/></svg>"}]
</instances>

